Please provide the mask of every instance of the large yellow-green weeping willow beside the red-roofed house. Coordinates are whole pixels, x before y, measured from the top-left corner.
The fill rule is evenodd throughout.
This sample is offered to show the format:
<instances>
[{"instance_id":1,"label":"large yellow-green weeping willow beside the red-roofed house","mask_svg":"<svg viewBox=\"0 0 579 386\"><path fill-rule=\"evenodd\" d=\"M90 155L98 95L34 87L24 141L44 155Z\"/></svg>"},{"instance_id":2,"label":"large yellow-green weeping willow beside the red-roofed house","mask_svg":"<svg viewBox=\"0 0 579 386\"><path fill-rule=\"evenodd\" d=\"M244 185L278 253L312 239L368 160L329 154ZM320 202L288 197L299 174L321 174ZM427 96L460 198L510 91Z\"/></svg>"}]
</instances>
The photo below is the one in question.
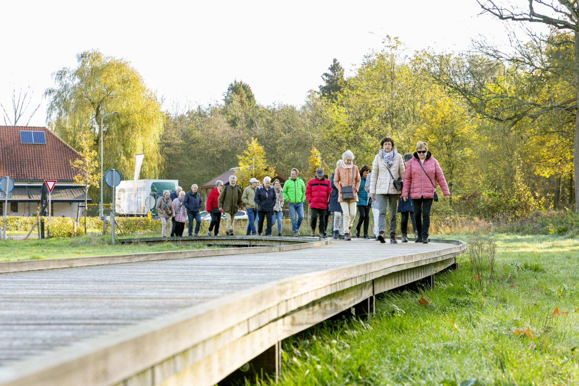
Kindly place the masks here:
<instances>
[{"instance_id":1,"label":"large yellow-green weeping willow beside the red-roofed house","mask_svg":"<svg viewBox=\"0 0 579 386\"><path fill-rule=\"evenodd\" d=\"M156 94L126 60L93 50L78 54L77 61L76 68L54 72L55 87L45 91L50 129L76 150L82 148L79 135L89 137L100 160L101 117L118 111L104 120L103 170L116 168L123 179L131 178L134 155L144 153L142 178L157 178L164 114Z\"/></svg>"}]
</instances>

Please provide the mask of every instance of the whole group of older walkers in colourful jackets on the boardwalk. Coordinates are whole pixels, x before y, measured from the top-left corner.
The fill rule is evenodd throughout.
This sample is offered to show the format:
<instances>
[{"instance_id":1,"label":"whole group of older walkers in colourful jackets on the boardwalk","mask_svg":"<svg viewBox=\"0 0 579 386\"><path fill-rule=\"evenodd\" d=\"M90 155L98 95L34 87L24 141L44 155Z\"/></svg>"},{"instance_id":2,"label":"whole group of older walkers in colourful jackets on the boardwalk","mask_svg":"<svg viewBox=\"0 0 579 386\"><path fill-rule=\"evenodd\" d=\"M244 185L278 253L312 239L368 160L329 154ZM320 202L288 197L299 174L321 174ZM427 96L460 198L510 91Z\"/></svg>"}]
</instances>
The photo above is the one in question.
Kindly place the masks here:
<instances>
[{"instance_id":1,"label":"whole group of older walkers in colourful jackets on the boardwalk","mask_svg":"<svg viewBox=\"0 0 579 386\"><path fill-rule=\"evenodd\" d=\"M211 215L208 236L219 235L221 214L225 214L225 236L233 236L235 215L242 206L247 211L247 235L272 235L272 227L277 222L277 234L281 236L281 218L285 203L290 211L292 232L299 236L303 221L303 201L309 203L312 236L318 227L320 237L327 237L328 218L334 214L332 237L351 240L356 212L360 214L356 226L356 236L369 239L369 214L374 218L375 240L386 242L386 214L389 214L390 243L397 243L397 214L401 213L401 241L408 242L408 219L411 219L415 242L428 243L430 209L433 201L438 201L436 183L445 196L449 196L448 186L438 161L428 151L426 142L417 142L415 153L398 153L394 140L383 138L380 149L372 162L372 167L354 164L354 154L346 150L342 159L328 178L322 168L316 170L316 177L304 183L299 171L291 170L290 179L283 186L278 179L265 177L260 184L256 178L241 190L237 177L231 175L229 181L217 181L207 197L207 211ZM189 221L189 236L193 236L193 220L196 220L195 236L199 236L201 196L197 185L190 192L181 187L176 192L163 193L157 201L157 213L162 221L162 235L165 237L168 221L173 228L171 237L181 237L185 222ZM255 225L257 223L257 226ZM265 231L263 224L266 224ZM363 236L361 236L363 232Z\"/></svg>"}]
</instances>

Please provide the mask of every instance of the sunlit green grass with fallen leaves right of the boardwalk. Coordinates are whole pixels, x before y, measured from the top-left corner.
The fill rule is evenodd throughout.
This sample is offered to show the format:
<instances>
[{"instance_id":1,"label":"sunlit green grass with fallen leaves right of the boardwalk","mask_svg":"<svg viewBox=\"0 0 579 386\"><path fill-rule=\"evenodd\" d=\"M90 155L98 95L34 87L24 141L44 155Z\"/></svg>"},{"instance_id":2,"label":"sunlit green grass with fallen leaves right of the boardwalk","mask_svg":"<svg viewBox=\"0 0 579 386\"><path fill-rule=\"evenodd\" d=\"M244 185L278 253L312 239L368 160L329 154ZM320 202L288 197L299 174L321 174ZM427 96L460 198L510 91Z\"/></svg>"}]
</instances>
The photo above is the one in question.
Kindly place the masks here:
<instances>
[{"instance_id":1,"label":"sunlit green grass with fallen leaves right of the boardwalk","mask_svg":"<svg viewBox=\"0 0 579 386\"><path fill-rule=\"evenodd\" d=\"M375 317L286 339L280 385L579 384L579 240L492 238L492 283L463 256L434 291L387 292Z\"/></svg>"}]
</instances>

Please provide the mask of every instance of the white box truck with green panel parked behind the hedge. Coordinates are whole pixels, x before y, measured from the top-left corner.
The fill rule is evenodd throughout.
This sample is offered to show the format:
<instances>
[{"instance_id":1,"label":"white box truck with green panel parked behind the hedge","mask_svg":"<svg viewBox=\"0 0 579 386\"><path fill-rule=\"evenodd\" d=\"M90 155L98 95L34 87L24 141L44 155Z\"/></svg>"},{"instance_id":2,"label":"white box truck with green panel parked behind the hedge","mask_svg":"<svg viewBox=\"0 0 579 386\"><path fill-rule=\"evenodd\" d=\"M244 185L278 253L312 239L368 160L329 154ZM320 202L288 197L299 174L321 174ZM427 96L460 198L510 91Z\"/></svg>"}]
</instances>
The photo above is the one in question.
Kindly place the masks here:
<instances>
[{"instance_id":1,"label":"white box truck with green panel parked behind the hedge","mask_svg":"<svg viewBox=\"0 0 579 386\"><path fill-rule=\"evenodd\" d=\"M146 216L145 198L155 197L155 203L163 194L163 190L175 192L179 181L177 179L138 179L135 192L134 181L121 181L116 187L115 212L119 216ZM157 214L155 207L151 208L153 215Z\"/></svg>"}]
</instances>

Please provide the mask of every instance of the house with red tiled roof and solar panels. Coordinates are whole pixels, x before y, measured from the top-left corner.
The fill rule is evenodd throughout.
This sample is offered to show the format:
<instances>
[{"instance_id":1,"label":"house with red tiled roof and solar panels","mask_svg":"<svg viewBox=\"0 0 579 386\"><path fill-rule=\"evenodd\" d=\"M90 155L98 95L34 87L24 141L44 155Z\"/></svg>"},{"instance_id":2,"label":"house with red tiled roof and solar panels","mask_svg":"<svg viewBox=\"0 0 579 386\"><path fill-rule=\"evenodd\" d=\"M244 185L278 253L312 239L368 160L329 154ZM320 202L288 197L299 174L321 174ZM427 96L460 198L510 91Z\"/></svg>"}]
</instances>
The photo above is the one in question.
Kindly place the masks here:
<instances>
[{"instance_id":1,"label":"house with red tiled roof and solar panels","mask_svg":"<svg viewBox=\"0 0 579 386\"><path fill-rule=\"evenodd\" d=\"M70 165L78 157L75 149L46 127L0 126L0 177L14 180L8 212L35 216L42 184L56 179L51 194L52 215L76 217L79 204L85 202L85 188L74 185L76 172Z\"/></svg>"}]
</instances>

